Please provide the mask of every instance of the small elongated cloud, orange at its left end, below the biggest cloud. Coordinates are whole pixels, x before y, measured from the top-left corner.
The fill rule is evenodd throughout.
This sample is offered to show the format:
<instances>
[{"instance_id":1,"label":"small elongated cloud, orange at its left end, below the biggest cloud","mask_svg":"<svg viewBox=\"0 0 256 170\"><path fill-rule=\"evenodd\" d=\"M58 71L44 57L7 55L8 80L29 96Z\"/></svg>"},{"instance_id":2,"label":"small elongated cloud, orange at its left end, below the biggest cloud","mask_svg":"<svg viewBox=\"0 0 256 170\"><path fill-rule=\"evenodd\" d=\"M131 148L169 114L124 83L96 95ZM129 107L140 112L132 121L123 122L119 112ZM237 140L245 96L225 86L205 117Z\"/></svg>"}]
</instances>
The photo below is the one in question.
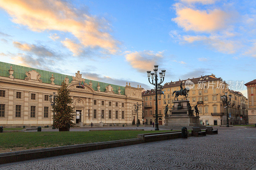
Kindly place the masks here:
<instances>
[{"instance_id":1,"label":"small elongated cloud, orange at its left end, below the biggest cloud","mask_svg":"<svg viewBox=\"0 0 256 170\"><path fill-rule=\"evenodd\" d=\"M20 43L17 41L13 41L13 45L16 48L19 48L20 50L30 52L31 54L35 54L37 56L55 56L54 52L47 49L44 46L38 46L34 44L27 44L27 43Z\"/></svg>"}]
</instances>

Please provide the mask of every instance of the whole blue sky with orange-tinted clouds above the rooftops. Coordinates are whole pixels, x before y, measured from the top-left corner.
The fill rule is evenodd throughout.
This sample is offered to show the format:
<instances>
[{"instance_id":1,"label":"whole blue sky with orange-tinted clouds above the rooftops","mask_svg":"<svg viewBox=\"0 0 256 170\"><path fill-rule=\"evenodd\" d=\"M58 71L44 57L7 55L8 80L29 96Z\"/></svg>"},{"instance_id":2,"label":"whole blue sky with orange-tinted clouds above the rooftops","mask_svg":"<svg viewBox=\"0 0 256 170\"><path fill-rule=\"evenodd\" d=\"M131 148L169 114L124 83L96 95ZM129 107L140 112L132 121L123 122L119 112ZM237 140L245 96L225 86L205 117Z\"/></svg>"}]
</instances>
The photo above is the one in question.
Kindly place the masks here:
<instances>
[{"instance_id":1,"label":"whole blue sky with orange-tinted clouds above the rooftops","mask_svg":"<svg viewBox=\"0 0 256 170\"><path fill-rule=\"evenodd\" d=\"M255 79L256 1L0 0L0 61L151 89L216 75L247 97ZM163 84L164 84L163 83Z\"/></svg>"}]
</instances>

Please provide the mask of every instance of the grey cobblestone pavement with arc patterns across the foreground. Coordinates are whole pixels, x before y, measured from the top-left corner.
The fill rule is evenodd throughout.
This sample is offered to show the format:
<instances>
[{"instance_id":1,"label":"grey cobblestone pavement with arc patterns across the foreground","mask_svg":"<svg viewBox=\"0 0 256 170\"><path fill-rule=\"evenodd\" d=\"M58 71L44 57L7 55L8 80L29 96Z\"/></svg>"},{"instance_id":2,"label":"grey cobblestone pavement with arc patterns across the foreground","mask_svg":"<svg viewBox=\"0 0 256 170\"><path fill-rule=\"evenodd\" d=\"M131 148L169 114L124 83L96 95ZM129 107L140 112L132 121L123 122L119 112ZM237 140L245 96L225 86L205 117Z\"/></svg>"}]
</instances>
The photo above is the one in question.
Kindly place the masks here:
<instances>
[{"instance_id":1,"label":"grey cobblestone pavement with arc patterns across the foreground","mask_svg":"<svg viewBox=\"0 0 256 170\"><path fill-rule=\"evenodd\" d=\"M255 169L256 128L0 165L5 169Z\"/></svg>"}]
</instances>

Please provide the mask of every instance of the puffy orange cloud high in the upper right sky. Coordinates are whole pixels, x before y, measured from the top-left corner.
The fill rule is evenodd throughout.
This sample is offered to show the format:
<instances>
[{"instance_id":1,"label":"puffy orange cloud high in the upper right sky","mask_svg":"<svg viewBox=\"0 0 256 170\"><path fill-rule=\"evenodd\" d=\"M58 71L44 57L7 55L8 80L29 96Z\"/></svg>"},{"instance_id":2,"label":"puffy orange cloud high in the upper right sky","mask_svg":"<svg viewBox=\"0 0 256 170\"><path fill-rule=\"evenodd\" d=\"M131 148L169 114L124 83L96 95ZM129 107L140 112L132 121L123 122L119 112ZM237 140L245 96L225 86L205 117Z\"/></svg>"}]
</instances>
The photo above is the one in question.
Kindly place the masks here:
<instances>
[{"instance_id":1,"label":"puffy orange cloud high in the upper right sky","mask_svg":"<svg viewBox=\"0 0 256 170\"><path fill-rule=\"evenodd\" d=\"M176 18L172 18L180 27L186 31L213 32L227 28L230 15L218 9L200 11L192 8L175 5Z\"/></svg>"}]
</instances>

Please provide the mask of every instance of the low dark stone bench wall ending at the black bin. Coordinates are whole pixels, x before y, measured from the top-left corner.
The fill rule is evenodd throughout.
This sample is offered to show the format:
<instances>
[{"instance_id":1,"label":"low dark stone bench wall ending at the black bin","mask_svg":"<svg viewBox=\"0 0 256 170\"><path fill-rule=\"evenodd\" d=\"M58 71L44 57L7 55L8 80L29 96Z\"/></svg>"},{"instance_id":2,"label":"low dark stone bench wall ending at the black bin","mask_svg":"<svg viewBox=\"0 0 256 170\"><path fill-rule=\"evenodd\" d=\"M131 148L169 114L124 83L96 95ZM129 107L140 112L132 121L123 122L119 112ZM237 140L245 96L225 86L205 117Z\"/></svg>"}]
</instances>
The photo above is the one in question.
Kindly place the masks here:
<instances>
[{"instance_id":1,"label":"low dark stone bench wall ending at the black bin","mask_svg":"<svg viewBox=\"0 0 256 170\"><path fill-rule=\"evenodd\" d=\"M176 139L180 137L181 131L138 134L138 138L142 139L142 143L167 139Z\"/></svg>"}]
</instances>

